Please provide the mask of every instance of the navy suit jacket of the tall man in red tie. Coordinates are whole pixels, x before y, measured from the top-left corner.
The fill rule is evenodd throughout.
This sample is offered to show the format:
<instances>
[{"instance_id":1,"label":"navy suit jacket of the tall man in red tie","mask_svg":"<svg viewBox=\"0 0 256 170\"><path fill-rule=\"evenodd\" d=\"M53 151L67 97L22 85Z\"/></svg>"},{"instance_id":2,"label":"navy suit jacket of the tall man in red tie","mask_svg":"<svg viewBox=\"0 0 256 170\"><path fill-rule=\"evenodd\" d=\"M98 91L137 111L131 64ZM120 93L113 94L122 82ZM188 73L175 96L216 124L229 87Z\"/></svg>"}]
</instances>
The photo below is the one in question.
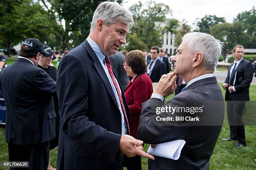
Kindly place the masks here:
<instances>
[{"instance_id":1,"label":"navy suit jacket of the tall man in red tie","mask_svg":"<svg viewBox=\"0 0 256 170\"><path fill-rule=\"evenodd\" d=\"M57 169L114 169L121 114L109 79L87 40L61 59L57 75L61 110ZM129 119L123 92L122 98Z\"/></svg>"}]
</instances>

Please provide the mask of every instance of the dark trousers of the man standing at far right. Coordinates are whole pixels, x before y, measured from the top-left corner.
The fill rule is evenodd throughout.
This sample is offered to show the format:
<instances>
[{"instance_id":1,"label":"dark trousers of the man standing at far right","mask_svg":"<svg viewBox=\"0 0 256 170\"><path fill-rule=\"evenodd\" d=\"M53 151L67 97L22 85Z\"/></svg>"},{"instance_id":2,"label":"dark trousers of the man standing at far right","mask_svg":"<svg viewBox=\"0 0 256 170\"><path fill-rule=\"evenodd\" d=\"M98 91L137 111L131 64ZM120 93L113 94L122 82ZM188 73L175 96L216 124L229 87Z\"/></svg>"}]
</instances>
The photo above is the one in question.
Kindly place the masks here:
<instances>
[{"instance_id":1,"label":"dark trousers of the man standing at far right","mask_svg":"<svg viewBox=\"0 0 256 170\"><path fill-rule=\"evenodd\" d=\"M242 121L245 103L246 101L227 101L230 138L237 140L239 144L243 145L246 145L244 124Z\"/></svg>"}]
</instances>

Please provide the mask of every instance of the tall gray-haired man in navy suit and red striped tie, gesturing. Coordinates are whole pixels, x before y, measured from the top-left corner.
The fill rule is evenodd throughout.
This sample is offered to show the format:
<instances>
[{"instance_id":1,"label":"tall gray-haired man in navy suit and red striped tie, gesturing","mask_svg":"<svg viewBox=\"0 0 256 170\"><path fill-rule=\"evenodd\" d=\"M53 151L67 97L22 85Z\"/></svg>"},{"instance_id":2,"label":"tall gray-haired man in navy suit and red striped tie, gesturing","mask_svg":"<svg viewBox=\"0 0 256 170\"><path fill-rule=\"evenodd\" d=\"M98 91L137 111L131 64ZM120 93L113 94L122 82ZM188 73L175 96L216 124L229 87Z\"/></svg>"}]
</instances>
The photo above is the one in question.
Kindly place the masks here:
<instances>
[{"instance_id":1,"label":"tall gray-haired man in navy suit and red striped tie, gesturing","mask_svg":"<svg viewBox=\"0 0 256 170\"><path fill-rule=\"evenodd\" d=\"M143 152L143 141L128 135L128 105L108 58L126 43L132 24L118 3L100 3L87 39L62 58L57 169L119 170L123 154L154 159Z\"/></svg>"}]
</instances>

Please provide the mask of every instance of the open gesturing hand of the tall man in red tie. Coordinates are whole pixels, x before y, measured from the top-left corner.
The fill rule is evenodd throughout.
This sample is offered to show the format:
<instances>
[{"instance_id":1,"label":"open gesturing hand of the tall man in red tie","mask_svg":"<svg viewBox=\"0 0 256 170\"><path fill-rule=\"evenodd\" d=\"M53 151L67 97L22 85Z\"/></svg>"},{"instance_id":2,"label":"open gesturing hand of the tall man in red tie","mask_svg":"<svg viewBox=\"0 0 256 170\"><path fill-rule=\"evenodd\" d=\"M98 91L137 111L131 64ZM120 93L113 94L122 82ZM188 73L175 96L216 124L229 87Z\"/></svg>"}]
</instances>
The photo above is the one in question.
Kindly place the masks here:
<instances>
[{"instance_id":1,"label":"open gesturing hand of the tall man in red tie","mask_svg":"<svg viewBox=\"0 0 256 170\"><path fill-rule=\"evenodd\" d=\"M142 147L143 141L136 140L134 137L124 134L122 135L120 142L119 142L119 149L128 157L134 157L139 155L141 157L146 157L151 160L154 160L152 155L143 151Z\"/></svg>"}]
</instances>

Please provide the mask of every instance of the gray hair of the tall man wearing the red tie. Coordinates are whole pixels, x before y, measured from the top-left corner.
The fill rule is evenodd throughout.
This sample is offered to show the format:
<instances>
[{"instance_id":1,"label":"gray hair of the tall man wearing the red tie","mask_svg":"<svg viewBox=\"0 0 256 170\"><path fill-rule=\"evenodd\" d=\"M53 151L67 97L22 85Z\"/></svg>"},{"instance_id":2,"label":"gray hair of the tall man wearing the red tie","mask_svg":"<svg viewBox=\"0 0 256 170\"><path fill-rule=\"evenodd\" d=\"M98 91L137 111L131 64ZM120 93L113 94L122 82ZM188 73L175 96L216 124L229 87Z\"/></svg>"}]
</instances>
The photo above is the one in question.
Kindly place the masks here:
<instances>
[{"instance_id":1,"label":"gray hair of the tall man wearing the red tie","mask_svg":"<svg viewBox=\"0 0 256 170\"><path fill-rule=\"evenodd\" d=\"M131 12L115 2L100 3L93 14L90 31L95 29L96 22L99 18L102 18L107 26L118 21L127 24L129 26L129 30L133 26L133 16Z\"/></svg>"}]
</instances>

